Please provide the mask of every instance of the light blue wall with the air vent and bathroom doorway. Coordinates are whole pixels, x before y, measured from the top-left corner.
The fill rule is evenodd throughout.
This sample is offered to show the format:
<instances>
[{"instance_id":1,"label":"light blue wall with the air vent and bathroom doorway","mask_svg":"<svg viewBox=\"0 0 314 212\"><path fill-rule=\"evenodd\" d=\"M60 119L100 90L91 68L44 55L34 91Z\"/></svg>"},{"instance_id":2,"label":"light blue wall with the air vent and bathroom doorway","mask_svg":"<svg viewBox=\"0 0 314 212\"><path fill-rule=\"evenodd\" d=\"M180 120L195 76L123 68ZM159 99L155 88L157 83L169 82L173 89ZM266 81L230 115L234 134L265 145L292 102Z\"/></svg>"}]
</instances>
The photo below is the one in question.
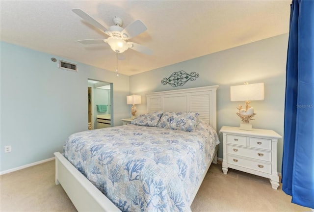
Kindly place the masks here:
<instances>
[{"instance_id":1,"label":"light blue wall with the air vent and bathroom doorway","mask_svg":"<svg viewBox=\"0 0 314 212\"><path fill-rule=\"evenodd\" d=\"M0 51L0 171L52 158L70 134L88 129L87 79L113 83L115 126L129 116L129 76L5 42ZM51 57L77 63L78 72Z\"/></svg>"}]
</instances>

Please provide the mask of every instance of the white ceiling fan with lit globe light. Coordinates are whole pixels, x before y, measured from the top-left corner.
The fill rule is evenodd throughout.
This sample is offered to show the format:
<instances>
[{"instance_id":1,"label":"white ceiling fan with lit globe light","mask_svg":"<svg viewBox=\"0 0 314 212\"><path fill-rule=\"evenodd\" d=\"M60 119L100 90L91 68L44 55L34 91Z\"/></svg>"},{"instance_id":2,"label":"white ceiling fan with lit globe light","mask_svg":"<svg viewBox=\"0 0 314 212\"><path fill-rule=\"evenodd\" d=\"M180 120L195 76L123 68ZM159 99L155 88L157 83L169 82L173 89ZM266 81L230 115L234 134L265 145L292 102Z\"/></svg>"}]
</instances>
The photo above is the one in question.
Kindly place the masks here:
<instances>
[{"instance_id":1,"label":"white ceiling fan with lit globe light","mask_svg":"<svg viewBox=\"0 0 314 212\"><path fill-rule=\"evenodd\" d=\"M144 32L147 28L140 20L136 20L125 28L122 28L123 21L121 18L115 16L113 18L113 26L109 27L109 30L92 18L90 15L85 13L83 10L75 8L72 11L85 20L87 23L92 26L100 29L106 35L109 35L107 39L87 39L87 40L78 40L78 42L82 44L99 44L99 43L107 43L111 49L116 53L123 53L128 49L135 50L144 54L153 54L153 51L145 46L140 44L126 41L129 40L142 32Z\"/></svg>"}]
</instances>

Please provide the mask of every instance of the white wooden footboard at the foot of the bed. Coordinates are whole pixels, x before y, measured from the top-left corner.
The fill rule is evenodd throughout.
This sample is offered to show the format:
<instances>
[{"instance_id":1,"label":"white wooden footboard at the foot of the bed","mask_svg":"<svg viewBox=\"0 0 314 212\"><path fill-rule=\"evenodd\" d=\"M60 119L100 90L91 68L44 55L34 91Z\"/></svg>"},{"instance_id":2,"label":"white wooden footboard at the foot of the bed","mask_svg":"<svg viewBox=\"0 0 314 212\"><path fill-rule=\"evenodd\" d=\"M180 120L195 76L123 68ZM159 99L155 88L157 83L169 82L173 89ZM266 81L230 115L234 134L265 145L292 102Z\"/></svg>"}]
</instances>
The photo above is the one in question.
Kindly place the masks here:
<instances>
[{"instance_id":1,"label":"white wooden footboard at the foot of the bed","mask_svg":"<svg viewBox=\"0 0 314 212\"><path fill-rule=\"evenodd\" d=\"M121 212L59 152L55 156L55 184L61 184L76 209L88 212Z\"/></svg>"}]
</instances>

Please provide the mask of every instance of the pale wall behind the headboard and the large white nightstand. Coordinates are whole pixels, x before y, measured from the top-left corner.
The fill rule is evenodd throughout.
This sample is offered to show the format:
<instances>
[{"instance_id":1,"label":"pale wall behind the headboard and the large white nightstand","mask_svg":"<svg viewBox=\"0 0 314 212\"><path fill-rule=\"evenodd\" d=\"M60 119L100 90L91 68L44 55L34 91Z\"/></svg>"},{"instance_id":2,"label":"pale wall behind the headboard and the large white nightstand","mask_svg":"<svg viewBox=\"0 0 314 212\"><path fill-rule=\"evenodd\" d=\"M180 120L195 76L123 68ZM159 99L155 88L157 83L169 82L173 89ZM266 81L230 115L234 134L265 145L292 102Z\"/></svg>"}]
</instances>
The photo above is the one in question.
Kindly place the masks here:
<instances>
[{"instance_id":1,"label":"pale wall behind the headboard and the large white nightstand","mask_svg":"<svg viewBox=\"0 0 314 212\"><path fill-rule=\"evenodd\" d=\"M251 103L257 113L256 120L251 123L254 128L271 129L283 135L287 47L288 34L283 34L133 75L130 77L130 93L142 96L142 104L136 106L138 114L141 114L146 112L146 93L218 84L220 86L217 90L219 131L222 126L237 127L241 122L235 112L236 106L244 105L244 102L230 101L230 86L243 82L264 82L265 100ZM199 78L176 88L161 84L161 79L180 70L187 73L197 72ZM283 139L279 139L279 172L281 172L282 152ZM218 157L223 158L222 145L219 145Z\"/></svg>"}]
</instances>

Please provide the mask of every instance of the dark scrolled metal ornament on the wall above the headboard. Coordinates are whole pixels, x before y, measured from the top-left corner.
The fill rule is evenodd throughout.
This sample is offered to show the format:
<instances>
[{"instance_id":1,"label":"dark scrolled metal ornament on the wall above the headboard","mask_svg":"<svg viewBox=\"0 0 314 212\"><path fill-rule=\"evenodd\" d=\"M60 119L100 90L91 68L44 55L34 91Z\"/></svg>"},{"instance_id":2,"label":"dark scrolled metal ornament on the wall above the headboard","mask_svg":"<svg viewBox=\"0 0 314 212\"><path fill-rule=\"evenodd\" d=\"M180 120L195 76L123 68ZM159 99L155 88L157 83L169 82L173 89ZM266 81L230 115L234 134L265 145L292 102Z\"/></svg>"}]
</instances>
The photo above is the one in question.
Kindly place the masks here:
<instances>
[{"instance_id":1,"label":"dark scrolled metal ornament on the wall above the headboard","mask_svg":"<svg viewBox=\"0 0 314 212\"><path fill-rule=\"evenodd\" d=\"M188 80L194 81L198 78L198 74L196 72L191 72L191 74L187 74L185 71L181 70L178 72L174 72L168 78L164 78L161 80L163 85L170 84L172 87L183 86Z\"/></svg>"}]
</instances>

